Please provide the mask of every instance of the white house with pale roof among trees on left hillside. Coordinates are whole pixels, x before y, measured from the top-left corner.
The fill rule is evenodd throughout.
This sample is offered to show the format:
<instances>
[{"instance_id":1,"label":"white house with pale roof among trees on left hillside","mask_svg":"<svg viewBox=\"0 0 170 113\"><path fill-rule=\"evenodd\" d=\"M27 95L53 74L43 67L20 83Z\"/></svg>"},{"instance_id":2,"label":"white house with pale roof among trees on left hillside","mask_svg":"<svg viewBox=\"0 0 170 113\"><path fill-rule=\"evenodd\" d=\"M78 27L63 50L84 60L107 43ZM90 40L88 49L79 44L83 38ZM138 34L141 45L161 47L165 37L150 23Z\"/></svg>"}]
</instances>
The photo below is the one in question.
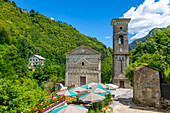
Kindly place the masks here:
<instances>
[{"instance_id":1,"label":"white house with pale roof among trees on left hillside","mask_svg":"<svg viewBox=\"0 0 170 113\"><path fill-rule=\"evenodd\" d=\"M33 70L33 68L39 64L44 66L45 65L44 63L45 63L45 58L43 58L42 56L32 55L31 57L29 57L29 69L30 70Z\"/></svg>"}]
</instances>

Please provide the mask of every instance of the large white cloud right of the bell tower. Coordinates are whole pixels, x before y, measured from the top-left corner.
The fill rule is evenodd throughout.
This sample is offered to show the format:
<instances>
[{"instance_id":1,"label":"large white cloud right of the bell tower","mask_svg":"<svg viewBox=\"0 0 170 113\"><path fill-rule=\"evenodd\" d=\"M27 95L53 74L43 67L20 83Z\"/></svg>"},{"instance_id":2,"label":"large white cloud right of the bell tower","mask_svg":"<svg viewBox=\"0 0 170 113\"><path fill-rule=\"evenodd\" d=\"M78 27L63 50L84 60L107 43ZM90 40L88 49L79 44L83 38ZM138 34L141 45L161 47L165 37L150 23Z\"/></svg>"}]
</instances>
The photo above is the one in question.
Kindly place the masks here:
<instances>
[{"instance_id":1,"label":"large white cloud right of the bell tower","mask_svg":"<svg viewBox=\"0 0 170 113\"><path fill-rule=\"evenodd\" d=\"M131 7L124 18L131 18L129 33L136 34L132 39L142 38L155 27L170 25L170 0L145 0L138 7Z\"/></svg>"}]
</instances>

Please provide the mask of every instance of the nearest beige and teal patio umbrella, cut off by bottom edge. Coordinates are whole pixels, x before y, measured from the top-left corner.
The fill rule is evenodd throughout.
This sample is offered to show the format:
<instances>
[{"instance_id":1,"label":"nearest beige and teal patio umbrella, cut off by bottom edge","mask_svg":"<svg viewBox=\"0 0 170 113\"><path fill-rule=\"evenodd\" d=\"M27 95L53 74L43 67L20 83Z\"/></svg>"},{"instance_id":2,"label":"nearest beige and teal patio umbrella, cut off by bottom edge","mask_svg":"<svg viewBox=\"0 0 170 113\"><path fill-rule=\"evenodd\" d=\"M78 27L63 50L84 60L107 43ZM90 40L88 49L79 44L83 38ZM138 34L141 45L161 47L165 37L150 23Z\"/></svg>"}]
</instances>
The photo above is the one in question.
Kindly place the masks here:
<instances>
[{"instance_id":1,"label":"nearest beige and teal patio umbrella, cut off by bottom edge","mask_svg":"<svg viewBox=\"0 0 170 113\"><path fill-rule=\"evenodd\" d=\"M55 109L50 113L87 113L88 109L80 105L66 105Z\"/></svg>"}]
</instances>

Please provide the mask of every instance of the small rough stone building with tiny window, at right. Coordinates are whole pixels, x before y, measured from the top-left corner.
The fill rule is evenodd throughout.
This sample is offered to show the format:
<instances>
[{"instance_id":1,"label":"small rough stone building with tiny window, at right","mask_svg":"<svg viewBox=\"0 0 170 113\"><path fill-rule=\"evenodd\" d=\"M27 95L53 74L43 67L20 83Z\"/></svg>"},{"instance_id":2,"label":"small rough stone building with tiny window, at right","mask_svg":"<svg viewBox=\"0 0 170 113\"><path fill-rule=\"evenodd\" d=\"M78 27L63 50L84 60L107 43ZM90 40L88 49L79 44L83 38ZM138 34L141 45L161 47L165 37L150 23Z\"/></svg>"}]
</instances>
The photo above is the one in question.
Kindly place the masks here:
<instances>
[{"instance_id":1,"label":"small rough stone building with tiny window, at right","mask_svg":"<svg viewBox=\"0 0 170 113\"><path fill-rule=\"evenodd\" d=\"M143 65L132 71L135 102L147 106L160 106L160 71L148 65Z\"/></svg>"}]
</instances>

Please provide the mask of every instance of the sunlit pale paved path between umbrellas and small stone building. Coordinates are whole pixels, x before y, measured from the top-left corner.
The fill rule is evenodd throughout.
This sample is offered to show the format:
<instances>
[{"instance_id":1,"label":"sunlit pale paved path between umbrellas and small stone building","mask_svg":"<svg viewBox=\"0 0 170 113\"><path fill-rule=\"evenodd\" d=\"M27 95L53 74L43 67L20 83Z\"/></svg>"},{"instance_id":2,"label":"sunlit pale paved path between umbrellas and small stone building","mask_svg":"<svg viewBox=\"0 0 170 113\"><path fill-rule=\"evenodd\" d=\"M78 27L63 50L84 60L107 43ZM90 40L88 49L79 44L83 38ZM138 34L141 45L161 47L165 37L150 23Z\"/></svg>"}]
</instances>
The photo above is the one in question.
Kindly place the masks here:
<instances>
[{"instance_id":1,"label":"sunlit pale paved path between umbrellas and small stone building","mask_svg":"<svg viewBox=\"0 0 170 113\"><path fill-rule=\"evenodd\" d=\"M157 111L154 108L138 107L131 101L133 97L133 90L118 89L118 92L114 91L116 98L113 100L111 107L113 113L164 113L163 111ZM123 92L125 92L123 94ZM112 92L113 93L113 92Z\"/></svg>"}]
</instances>

